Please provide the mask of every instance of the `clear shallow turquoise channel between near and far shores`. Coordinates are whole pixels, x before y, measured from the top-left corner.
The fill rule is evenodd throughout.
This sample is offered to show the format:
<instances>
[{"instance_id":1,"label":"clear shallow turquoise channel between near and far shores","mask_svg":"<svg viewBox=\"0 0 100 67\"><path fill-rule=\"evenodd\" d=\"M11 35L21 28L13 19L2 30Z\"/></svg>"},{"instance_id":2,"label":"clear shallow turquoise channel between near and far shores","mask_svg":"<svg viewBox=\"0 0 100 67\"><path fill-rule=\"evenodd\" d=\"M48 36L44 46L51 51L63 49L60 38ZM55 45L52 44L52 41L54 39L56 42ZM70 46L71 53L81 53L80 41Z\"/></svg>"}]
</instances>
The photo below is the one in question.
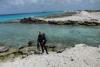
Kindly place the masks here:
<instances>
[{"instance_id":1,"label":"clear shallow turquoise channel between near and far shores","mask_svg":"<svg viewBox=\"0 0 100 67\"><path fill-rule=\"evenodd\" d=\"M36 43L38 31L46 33L47 45L100 44L100 26L48 24L0 24L0 42L12 47L26 45L30 40Z\"/></svg>"}]
</instances>

